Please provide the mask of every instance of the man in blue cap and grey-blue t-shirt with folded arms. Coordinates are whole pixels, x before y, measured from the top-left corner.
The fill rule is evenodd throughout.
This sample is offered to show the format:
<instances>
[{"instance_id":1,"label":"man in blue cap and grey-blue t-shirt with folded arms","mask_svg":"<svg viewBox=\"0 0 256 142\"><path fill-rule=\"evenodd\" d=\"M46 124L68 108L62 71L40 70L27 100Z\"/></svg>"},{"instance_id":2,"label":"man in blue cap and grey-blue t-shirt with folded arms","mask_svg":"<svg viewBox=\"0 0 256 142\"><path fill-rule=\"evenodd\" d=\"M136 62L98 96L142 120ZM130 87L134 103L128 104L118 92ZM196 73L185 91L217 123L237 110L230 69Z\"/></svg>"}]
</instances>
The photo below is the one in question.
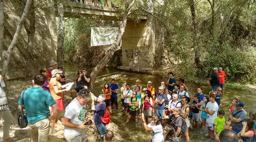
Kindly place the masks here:
<instances>
[{"instance_id":1,"label":"man in blue cap and grey-blue t-shirt with folded arms","mask_svg":"<svg viewBox=\"0 0 256 142\"><path fill-rule=\"evenodd\" d=\"M243 102L236 103L236 109L233 110L229 116L229 119L235 123L235 127L233 128L233 130L236 132L236 134L238 134L242 130L242 122L244 122L246 118L246 112L243 110L243 107Z\"/></svg>"}]
</instances>

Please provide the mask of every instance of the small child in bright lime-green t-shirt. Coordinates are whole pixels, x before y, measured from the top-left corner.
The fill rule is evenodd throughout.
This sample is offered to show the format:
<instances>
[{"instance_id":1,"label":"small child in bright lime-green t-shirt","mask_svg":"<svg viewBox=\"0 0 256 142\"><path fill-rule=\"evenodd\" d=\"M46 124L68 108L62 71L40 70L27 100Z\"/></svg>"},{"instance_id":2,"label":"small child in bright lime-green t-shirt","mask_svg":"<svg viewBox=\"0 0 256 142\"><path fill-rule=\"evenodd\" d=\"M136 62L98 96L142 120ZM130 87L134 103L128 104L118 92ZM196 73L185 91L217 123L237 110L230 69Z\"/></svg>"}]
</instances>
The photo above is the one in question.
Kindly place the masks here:
<instances>
[{"instance_id":1,"label":"small child in bright lime-green t-shirt","mask_svg":"<svg viewBox=\"0 0 256 142\"><path fill-rule=\"evenodd\" d=\"M224 115L225 115L224 110L219 110L219 116L214 121L215 139L216 139L216 135L219 134L222 130L224 130L224 125L225 125Z\"/></svg>"}]
</instances>

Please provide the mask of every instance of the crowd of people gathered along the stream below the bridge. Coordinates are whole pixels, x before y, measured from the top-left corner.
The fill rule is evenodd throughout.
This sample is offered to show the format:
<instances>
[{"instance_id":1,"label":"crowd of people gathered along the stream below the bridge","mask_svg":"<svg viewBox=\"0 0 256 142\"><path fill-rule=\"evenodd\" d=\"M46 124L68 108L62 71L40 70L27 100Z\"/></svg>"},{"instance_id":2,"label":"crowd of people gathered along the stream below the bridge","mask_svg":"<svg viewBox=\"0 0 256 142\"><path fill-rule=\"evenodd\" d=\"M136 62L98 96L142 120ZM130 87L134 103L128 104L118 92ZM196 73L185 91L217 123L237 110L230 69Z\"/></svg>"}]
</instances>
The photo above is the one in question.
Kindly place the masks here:
<instances>
[{"instance_id":1,"label":"crowd of people gathered along the stream below the bridge","mask_svg":"<svg viewBox=\"0 0 256 142\"><path fill-rule=\"evenodd\" d=\"M121 97L123 117L130 122L135 117L138 126L141 119L142 129L150 131L150 142L180 142L184 137L190 142L189 130L194 127L206 132L207 141L216 142L256 142L256 111L249 113L243 109L244 103L237 98L232 99L229 112L221 109L224 94L225 72L222 68L214 68L211 78L211 91L209 95L203 93L202 87L197 87L195 95L189 95L188 88L183 78L175 79L172 72L168 79L159 84L158 89L148 81L142 87L141 80L137 79L135 85L122 81L119 88L115 79L109 84L106 82L102 93L96 97L88 88L90 75L86 69L77 71L73 78L76 87L68 89L63 85L72 82L68 80L63 67L57 67L55 61L50 62L48 69L41 69L33 77L33 87L25 89L18 101L19 109L24 105L28 118L28 125L32 128L31 139L33 142L46 142L50 125L53 127L62 122L64 137L67 142L88 142L85 129L96 126L102 141L111 142L114 133L106 130L106 122L102 117L106 113L121 112L118 110L118 97ZM2 82L2 77L0 77ZM63 96L70 91L72 101L65 107ZM9 128L13 116L8 110L7 98L4 90L0 90L0 118L4 119L4 142L11 142ZM40 98L40 99L38 99ZM93 117L87 116L86 107L91 103L90 110L94 111ZM24 103L23 103L24 102ZM63 118L59 113L65 110ZM228 119L224 116L229 113Z\"/></svg>"}]
</instances>

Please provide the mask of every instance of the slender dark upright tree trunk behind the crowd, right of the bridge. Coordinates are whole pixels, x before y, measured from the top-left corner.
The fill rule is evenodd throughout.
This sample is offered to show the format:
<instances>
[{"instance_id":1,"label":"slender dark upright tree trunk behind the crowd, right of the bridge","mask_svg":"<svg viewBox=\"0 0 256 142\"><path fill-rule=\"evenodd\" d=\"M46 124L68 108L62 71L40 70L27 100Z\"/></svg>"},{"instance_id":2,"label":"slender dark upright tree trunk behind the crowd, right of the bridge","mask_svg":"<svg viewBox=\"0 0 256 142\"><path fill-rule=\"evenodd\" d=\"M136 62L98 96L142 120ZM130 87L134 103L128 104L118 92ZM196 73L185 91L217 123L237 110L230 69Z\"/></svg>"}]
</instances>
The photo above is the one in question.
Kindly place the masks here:
<instances>
[{"instance_id":1,"label":"slender dark upright tree trunk behind the crowd, right of the bridge","mask_svg":"<svg viewBox=\"0 0 256 142\"><path fill-rule=\"evenodd\" d=\"M196 23L195 23L195 1L190 0L190 11L191 11L191 19L192 19L192 48L194 49L194 60L196 67L200 70L200 52L199 47L196 46Z\"/></svg>"}]
</instances>

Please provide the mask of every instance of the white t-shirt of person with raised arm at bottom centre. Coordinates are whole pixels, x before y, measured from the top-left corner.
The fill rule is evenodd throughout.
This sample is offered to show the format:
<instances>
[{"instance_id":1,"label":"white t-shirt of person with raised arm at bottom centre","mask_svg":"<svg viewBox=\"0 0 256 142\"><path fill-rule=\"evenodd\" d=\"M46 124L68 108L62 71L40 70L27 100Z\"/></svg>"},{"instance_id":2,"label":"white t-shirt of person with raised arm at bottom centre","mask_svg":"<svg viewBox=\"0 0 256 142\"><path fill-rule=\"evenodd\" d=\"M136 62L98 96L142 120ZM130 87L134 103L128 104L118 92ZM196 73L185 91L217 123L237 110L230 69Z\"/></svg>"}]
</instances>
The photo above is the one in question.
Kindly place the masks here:
<instances>
[{"instance_id":1,"label":"white t-shirt of person with raised arm at bottom centre","mask_svg":"<svg viewBox=\"0 0 256 142\"><path fill-rule=\"evenodd\" d=\"M152 128L152 142L163 142L163 127L161 124L154 125L152 122L147 125L147 127Z\"/></svg>"}]
</instances>

